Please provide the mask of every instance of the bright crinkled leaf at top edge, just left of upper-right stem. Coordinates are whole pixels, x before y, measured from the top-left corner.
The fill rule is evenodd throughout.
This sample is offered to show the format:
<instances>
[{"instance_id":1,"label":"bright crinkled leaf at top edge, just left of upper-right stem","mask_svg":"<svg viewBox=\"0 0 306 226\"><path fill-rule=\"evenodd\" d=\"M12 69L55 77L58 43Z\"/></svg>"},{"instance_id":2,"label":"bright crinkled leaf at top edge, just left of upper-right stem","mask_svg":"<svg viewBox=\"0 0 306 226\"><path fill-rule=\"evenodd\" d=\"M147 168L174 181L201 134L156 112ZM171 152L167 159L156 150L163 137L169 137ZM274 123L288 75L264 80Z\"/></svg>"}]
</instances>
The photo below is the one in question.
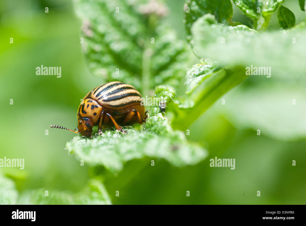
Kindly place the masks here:
<instances>
[{"instance_id":1,"label":"bright crinkled leaf at top edge, just left of upper-right stem","mask_svg":"<svg viewBox=\"0 0 306 226\"><path fill-rule=\"evenodd\" d=\"M233 0L234 5L241 10L242 13L248 17L258 20L261 17L261 13L258 13L258 7L260 10L263 7L262 0Z\"/></svg>"}]
</instances>

